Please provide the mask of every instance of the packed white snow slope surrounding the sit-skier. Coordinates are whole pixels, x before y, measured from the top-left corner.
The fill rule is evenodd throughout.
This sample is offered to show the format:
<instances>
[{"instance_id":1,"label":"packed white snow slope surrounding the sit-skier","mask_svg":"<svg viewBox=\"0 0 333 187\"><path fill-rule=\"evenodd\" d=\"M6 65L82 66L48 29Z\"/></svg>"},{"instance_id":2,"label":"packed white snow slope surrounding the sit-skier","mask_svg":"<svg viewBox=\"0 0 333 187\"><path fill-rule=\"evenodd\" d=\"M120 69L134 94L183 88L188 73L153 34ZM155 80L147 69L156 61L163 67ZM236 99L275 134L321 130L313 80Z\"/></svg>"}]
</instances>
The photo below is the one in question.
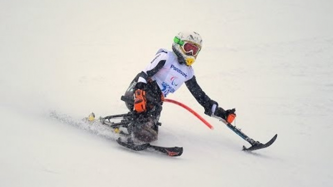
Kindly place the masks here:
<instances>
[{"instance_id":1,"label":"packed white snow slope surrounding the sit-skier","mask_svg":"<svg viewBox=\"0 0 333 187\"><path fill-rule=\"evenodd\" d=\"M0 1L1 187L332 187L332 0ZM159 140L181 157L133 152L105 129L59 122L127 112L120 96L173 37L197 31L202 89L249 145L185 86ZM69 119L69 118L68 118Z\"/></svg>"}]
</instances>

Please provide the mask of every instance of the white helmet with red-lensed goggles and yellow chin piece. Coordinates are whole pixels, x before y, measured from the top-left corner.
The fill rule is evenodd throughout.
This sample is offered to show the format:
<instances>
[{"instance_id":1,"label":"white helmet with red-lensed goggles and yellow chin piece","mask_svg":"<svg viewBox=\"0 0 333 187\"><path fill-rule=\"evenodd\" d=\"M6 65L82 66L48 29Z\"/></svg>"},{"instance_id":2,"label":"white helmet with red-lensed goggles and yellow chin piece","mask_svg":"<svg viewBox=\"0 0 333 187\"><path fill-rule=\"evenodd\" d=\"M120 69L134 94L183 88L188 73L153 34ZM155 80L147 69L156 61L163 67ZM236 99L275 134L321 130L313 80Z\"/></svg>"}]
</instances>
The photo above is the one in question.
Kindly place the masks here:
<instances>
[{"instance_id":1,"label":"white helmet with red-lensed goggles and yellow chin piece","mask_svg":"<svg viewBox=\"0 0 333 187\"><path fill-rule=\"evenodd\" d=\"M191 66L202 47L202 38L197 32L179 32L173 39L172 50L179 63Z\"/></svg>"}]
</instances>

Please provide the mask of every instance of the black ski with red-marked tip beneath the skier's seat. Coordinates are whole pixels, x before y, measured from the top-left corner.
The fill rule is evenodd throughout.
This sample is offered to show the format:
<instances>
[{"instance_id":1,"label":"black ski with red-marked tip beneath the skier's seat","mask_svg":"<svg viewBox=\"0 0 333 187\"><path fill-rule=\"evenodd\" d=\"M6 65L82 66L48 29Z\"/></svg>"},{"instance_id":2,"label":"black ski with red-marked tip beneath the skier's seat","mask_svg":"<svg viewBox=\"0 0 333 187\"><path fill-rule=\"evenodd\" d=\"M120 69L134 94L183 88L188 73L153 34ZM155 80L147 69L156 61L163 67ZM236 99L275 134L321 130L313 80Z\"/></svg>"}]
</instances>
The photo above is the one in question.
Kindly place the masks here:
<instances>
[{"instance_id":1,"label":"black ski with red-marked tip beneath the skier's seat","mask_svg":"<svg viewBox=\"0 0 333 187\"><path fill-rule=\"evenodd\" d=\"M117 143L121 146L129 148L134 151L142 151L146 149L152 149L163 153L167 156L181 156L183 154L183 147L161 147L156 145L151 145L150 143L134 144L131 141L122 141L121 138L117 139Z\"/></svg>"}]
</instances>

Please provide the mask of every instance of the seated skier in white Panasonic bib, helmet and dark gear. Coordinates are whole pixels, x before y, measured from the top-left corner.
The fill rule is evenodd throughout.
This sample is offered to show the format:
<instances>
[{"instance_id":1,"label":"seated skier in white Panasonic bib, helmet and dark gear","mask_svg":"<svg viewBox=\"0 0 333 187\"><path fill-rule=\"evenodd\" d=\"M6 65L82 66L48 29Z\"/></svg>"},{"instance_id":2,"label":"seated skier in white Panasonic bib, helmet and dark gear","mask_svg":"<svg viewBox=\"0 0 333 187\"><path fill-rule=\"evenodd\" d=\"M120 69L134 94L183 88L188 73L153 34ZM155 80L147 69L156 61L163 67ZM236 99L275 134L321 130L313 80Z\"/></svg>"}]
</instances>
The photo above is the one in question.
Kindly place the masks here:
<instances>
[{"instance_id":1,"label":"seated skier in white Panasonic bib, helmet and dark gear","mask_svg":"<svg viewBox=\"0 0 333 187\"><path fill-rule=\"evenodd\" d=\"M134 123L129 125L129 133L143 142L157 140L163 99L174 93L185 82L186 87L204 108L209 116L218 116L232 123L235 109L224 110L208 97L200 88L193 62L202 47L201 36L197 32L179 32L174 37L172 51L160 49L147 67L130 84L126 97L134 97L134 102L126 100L127 108L134 113Z\"/></svg>"}]
</instances>

